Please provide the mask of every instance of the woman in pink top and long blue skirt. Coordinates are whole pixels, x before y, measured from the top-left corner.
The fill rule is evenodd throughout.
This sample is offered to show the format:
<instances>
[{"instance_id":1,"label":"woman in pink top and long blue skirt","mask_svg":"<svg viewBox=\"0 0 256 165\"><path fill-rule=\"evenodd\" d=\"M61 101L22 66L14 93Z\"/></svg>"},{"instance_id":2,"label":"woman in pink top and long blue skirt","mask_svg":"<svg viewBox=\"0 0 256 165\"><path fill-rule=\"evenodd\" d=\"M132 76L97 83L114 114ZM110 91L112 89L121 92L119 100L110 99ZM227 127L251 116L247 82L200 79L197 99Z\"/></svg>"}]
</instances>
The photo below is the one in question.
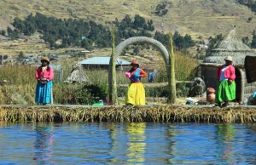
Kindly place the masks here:
<instances>
[{"instance_id":1,"label":"woman in pink top and long blue skirt","mask_svg":"<svg viewBox=\"0 0 256 165\"><path fill-rule=\"evenodd\" d=\"M48 104L52 101L52 80L54 78L54 71L49 66L49 58L44 57L42 65L36 71L36 78L38 80L36 88L36 102L39 104Z\"/></svg>"}]
</instances>

